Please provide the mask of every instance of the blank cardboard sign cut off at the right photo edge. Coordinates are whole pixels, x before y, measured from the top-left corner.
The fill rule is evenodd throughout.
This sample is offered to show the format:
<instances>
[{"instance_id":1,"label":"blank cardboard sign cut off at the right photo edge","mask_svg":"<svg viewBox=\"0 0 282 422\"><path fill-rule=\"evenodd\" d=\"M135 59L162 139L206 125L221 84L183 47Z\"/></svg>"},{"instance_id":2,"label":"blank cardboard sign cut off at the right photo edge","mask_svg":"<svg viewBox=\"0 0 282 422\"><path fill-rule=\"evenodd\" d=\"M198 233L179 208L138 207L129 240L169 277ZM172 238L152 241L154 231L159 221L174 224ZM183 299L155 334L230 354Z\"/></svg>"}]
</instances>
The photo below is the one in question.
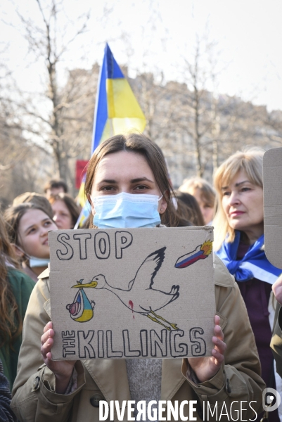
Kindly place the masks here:
<instances>
[{"instance_id":1,"label":"blank cardboard sign cut off at the right photo edge","mask_svg":"<svg viewBox=\"0 0 282 422\"><path fill-rule=\"evenodd\" d=\"M264 248L267 259L282 269L282 148L264 154Z\"/></svg>"}]
</instances>

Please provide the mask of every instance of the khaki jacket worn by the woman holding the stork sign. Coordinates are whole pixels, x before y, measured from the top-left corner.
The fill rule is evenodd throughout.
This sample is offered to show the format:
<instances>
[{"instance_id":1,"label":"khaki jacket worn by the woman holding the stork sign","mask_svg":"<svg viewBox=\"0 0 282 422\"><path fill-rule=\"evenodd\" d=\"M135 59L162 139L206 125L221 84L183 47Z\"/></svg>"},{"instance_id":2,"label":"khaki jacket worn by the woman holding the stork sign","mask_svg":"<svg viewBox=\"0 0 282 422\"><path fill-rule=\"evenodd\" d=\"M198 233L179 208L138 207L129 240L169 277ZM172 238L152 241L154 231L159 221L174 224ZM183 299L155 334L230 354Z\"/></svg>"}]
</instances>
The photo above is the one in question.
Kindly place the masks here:
<instances>
[{"instance_id":1,"label":"khaki jacket worn by the woman holding the stork sign","mask_svg":"<svg viewBox=\"0 0 282 422\"><path fill-rule=\"evenodd\" d=\"M40 353L40 337L50 321L49 279L48 273L44 273L32 292L25 316L11 407L19 420L25 422L98 422L99 399L118 400L120 407L123 400L130 400L125 361L88 359L77 362L77 389L69 395L56 394L55 376L43 364ZM238 286L217 257L215 284L217 314L227 345L225 365L210 381L196 384L186 376L187 359L163 359L161 399L178 400L179 406L184 400L196 400L197 411L193 416L197 416L197 421L203 420L203 411L205 420L210 421L232 420L230 411L233 419L240 419L240 416L245 420L254 419L252 409L257 413L262 411L262 390L265 388L260 378L255 338ZM245 402L241 404L243 400ZM209 419L207 401L214 411ZM226 414L224 404L229 416L219 419L221 412ZM186 404L184 416L191 420L188 409ZM241 409L246 410L240 415ZM180 417L177 420L180 421ZM124 421L127 421L127 412Z\"/></svg>"}]
</instances>

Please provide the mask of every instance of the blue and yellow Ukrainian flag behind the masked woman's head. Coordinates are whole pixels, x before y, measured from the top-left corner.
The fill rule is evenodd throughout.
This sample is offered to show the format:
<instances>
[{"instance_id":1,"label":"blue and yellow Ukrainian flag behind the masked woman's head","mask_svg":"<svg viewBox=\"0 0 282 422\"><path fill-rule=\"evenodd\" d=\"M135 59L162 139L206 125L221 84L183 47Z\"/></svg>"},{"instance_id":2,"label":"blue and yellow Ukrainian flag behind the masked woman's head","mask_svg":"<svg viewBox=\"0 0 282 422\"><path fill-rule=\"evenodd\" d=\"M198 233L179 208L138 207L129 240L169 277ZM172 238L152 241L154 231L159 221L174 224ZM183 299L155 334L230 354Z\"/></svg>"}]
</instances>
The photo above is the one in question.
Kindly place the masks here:
<instances>
[{"instance_id":1,"label":"blue and yellow Ukrainian flag behind the masked woman's head","mask_svg":"<svg viewBox=\"0 0 282 422\"><path fill-rule=\"evenodd\" d=\"M110 136L126 132L143 132L145 126L146 118L143 111L115 61L110 47L105 44L105 54L98 79L91 155L99 143ZM84 195L84 181L79 188L77 200L83 208L75 229L82 226L91 212Z\"/></svg>"}]
</instances>

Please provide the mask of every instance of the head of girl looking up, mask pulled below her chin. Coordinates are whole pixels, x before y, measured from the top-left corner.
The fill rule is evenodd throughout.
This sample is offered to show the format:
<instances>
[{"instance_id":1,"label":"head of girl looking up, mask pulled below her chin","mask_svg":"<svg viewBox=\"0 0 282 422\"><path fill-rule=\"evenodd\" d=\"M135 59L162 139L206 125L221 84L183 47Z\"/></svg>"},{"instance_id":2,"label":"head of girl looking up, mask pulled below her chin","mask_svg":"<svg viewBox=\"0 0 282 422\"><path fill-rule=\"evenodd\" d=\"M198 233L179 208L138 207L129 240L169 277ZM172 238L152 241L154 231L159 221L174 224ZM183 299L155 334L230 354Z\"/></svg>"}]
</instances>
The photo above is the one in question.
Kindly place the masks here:
<instances>
[{"instance_id":1,"label":"head of girl looking up, mask pulled below her chin","mask_svg":"<svg viewBox=\"0 0 282 422\"><path fill-rule=\"evenodd\" d=\"M48 212L34 203L23 203L8 208L4 214L10 242L20 257L23 271L34 282L48 267L48 231L58 229Z\"/></svg>"}]
</instances>

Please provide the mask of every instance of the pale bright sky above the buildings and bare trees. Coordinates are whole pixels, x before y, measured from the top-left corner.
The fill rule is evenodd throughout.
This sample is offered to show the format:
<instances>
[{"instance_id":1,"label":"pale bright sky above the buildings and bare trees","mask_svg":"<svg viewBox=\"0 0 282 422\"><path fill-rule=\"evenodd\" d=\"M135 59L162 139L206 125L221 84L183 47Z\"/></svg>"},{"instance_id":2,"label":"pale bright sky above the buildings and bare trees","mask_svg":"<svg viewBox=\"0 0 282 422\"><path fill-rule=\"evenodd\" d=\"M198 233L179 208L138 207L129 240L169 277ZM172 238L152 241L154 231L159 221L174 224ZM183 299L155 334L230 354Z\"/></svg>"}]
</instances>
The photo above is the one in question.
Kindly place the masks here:
<instances>
[{"instance_id":1,"label":"pale bright sky above the buildings and bare trees","mask_svg":"<svg viewBox=\"0 0 282 422\"><path fill-rule=\"evenodd\" d=\"M44 1L44 0L42 0ZM47 0L45 3L48 3ZM63 0L65 15L77 25L77 16L91 11L89 31L77 39L65 56L63 68L91 68L101 64L105 41L120 65L135 70L163 72L165 79L181 81L184 57L191 59L195 39L208 35L218 60L217 91L282 110L282 1L281 0ZM106 6L111 11L104 15ZM15 10L40 22L36 0L1 0L2 60L13 69L23 89L40 87L44 75L40 60L27 55ZM12 23L14 27L6 25ZM82 58L82 55L84 57Z\"/></svg>"}]
</instances>

